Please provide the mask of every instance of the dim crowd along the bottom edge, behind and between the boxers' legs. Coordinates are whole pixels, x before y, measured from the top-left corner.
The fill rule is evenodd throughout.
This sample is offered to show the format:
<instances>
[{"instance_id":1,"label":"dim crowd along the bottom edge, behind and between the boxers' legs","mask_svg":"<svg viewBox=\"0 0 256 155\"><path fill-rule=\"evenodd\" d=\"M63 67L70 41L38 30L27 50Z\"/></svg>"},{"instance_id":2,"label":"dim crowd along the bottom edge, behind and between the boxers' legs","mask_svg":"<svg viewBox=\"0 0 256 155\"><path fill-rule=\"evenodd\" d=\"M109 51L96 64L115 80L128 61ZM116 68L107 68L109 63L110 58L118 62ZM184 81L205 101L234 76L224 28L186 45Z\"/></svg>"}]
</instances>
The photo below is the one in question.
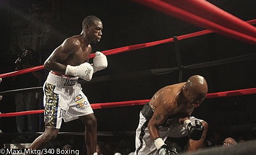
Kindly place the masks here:
<instances>
[{"instance_id":1,"label":"dim crowd along the bottom edge, behind and between the boxers' legs","mask_svg":"<svg viewBox=\"0 0 256 155\"><path fill-rule=\"evenodd\" d=\"M69 136L69 141L62 141L62 137ZM131 155L135 150L134 144L135 135L113 135L113 136L99 136L97 150L98 154L103 155ZM81 140L81 141L79 141ZM221 147L221 146L231 146L240 144L242 142L256 140L255 131L237 131L237 132L217 132L210 131L207 134L207 138L204 141L204 145L200 150L207 149L210 147ZM166 144L170 146L175 146L177 150L181 153L184 152L185 148L185 138L180 139L167 139ZM55 141L55 144L49 144L50 147L57 147L63 149L64 147L69 147L70 149L77 150L80 152L86 152L86 150L81 149L83 147L83 136L74 135L61 135L59 140ZM199 150L199 151L200 151Z\"/></svg>"}]
</instances>

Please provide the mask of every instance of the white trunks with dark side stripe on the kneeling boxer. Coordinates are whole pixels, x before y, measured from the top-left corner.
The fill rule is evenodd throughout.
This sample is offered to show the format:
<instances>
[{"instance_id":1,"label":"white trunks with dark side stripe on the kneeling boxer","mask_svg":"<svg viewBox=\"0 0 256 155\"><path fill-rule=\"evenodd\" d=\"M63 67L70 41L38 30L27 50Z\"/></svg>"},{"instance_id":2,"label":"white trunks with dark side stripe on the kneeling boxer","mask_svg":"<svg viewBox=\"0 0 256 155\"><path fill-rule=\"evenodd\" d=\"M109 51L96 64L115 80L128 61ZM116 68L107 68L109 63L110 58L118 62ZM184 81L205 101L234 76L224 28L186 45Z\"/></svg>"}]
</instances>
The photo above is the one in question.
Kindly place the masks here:
<instances>
[{"instance_id":1,"label":"white trunks with dark side stripe on the kneeling boxer","mask_svg":"<svg viewBox=\"0 0 256 155\"><path fill-rule=\"evenodd\" d=\"M143 106L143 110L139 113L139 125L136 129L136 151L134 155L158 154L154 141L151 139L148 130L148 122L153 115L153 110L148 103ZM194 123L195 120L202 122L203 120L195 117L189 118ZM185 137L188 135L187 130L183 127L178 118L168 118L165 125L158 127L160 137L165 141L167 137Z\"/></svg>"}]
</instances>

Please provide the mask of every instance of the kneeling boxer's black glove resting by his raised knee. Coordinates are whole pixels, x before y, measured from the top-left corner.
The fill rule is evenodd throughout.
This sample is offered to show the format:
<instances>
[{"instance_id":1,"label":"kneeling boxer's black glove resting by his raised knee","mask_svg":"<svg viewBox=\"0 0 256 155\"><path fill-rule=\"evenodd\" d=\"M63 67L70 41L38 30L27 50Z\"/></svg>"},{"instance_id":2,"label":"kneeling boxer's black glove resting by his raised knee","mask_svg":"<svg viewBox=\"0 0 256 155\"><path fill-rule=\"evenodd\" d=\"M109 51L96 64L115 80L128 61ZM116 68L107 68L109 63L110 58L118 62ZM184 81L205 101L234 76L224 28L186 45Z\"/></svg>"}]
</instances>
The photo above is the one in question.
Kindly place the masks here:
<instances>
[{"instance_id":1,"label":"kneeling boxer's black glove resting by his raised knee","mask_svg":"<svg viewBox=\"0 0 256 155\"><path fill-rule=\"evenodd\" d=\"M202 132L204 132L204 126L202 126L202 123L199 120L195 120L194 125L190 120L184 121L184 126L188 130L189 138L198 141L202 137Z\"/></svg>"}]
</instances>

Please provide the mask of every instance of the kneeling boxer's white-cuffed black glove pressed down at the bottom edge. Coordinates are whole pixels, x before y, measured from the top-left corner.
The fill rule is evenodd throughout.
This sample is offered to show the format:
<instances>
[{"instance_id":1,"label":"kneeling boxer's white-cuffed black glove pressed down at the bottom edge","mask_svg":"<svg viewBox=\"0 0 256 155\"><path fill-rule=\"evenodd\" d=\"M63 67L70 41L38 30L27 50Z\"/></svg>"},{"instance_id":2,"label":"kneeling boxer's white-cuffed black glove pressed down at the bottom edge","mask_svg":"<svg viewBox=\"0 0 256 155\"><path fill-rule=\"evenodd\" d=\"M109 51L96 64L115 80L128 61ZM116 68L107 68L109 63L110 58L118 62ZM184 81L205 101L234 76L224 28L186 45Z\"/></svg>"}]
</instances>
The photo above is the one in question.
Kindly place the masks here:
<instances>
[{"instance_id":1,"label":"kneeling boxer's white-cuffed black glove pressed down at the bottom edge","mask_svg":"<svg viewBox=\"0 0 256 155\"><path fill-rule=\"evenodd\" d=\"M158 149L159 155L178 154L175 147L167 146L160 137L154 140L154 145Z\"/></svg>"}]
</instances>

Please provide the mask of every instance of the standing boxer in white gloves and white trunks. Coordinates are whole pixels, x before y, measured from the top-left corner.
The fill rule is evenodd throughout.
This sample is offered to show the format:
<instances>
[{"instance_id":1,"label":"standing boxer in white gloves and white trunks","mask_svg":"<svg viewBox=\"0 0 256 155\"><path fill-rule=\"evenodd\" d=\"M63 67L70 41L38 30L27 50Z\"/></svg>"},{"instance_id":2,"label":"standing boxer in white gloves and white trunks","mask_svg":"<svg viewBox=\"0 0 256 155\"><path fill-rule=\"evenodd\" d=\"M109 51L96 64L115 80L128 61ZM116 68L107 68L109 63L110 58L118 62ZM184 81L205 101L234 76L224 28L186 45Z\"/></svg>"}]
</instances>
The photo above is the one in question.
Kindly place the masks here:
<instances>
[{"instance_id":1,"label":"standing boxer in white gloves and white trunks","mask_svg":"<svg viewBox=\"0 0 256 155\"><path fill-rule=\"evenodd\" d=\"M65 122L79 118L84 125L87 154L96 152L97 122L91 105L81 91L78 78L90 81L93 73L107 67L107 57L95 53L93 64L89 64L90 43L100 42L102 21L96 16L83 20L80 35L66 38L45 61L49 76L44 83L45 131L32 143L32 149L39 149L57 137L62 118Z\"/></svg>"}]
</instances>

